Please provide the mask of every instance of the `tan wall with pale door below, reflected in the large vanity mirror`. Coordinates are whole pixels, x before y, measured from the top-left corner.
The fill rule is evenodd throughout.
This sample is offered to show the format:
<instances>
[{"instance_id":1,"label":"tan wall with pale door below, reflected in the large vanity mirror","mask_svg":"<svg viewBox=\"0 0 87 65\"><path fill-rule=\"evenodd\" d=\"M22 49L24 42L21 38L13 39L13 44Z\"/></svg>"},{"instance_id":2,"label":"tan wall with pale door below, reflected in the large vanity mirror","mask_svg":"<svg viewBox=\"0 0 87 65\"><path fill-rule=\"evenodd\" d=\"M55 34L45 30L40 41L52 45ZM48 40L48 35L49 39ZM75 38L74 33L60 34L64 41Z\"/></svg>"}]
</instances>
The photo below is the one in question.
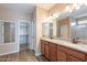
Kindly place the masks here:
<instances>
[{"instance_id":1,"label":"tan wall with pale door below, reflected in the large vanity mirror","mask_svg":"<svg viewBox=\"0 0 87 65\"><path fill-rule=\"evenodd\" d=\"M69 18L61 21L61 37L69 39Z\"/></svg>"}]
</instances>

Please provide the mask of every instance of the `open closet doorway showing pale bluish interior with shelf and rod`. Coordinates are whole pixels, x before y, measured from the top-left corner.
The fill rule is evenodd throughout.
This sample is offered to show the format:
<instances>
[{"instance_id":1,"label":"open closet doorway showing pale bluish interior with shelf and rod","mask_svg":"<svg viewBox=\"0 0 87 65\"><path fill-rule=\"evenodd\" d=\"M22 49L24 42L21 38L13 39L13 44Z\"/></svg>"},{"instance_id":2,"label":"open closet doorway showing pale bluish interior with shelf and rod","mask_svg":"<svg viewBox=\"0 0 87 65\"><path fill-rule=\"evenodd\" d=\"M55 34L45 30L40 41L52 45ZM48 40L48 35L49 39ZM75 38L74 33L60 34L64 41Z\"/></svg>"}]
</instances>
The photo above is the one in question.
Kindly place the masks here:
<instances>
[{"instance_id":1,"label":"open closet doorway showing pale bluish interior with shelf and rod","mask_svg":"<svg viewBox=\"0 0 87 65\"><path fill-rule=\"evenodd\" d=\"M29 22L20 22L20 51L29 48Z\"/></svg>"}]
</instances>

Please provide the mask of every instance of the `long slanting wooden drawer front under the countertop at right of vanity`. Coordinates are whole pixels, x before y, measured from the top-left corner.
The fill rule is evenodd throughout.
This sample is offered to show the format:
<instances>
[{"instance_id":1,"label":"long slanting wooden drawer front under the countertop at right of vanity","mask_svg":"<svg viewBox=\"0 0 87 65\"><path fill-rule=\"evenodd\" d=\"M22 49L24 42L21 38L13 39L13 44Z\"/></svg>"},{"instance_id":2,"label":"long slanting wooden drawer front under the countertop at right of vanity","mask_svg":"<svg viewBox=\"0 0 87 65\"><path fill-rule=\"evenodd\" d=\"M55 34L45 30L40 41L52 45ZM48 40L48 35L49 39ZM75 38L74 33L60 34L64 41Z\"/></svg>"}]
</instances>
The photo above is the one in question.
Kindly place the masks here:
<instances>
[{"instance_id":1,"label":"long slanting wooden drawer front under the countertop at right of vanity","mask_svg":"<svg viewBox=\"0 0 87 65\"><path fill-rule=\"evenodd\" d=\"M78 52L78 51L75 51L75 50L72 50L72 48L67 48L67 47L63 47L61 45L57 45L57 50L61 50L61 51L72 55L72 56L75 56L75 57L77 57L79 59L85 61L85 54L81 53L81 52Z\"/></svg>"}]
</instances>

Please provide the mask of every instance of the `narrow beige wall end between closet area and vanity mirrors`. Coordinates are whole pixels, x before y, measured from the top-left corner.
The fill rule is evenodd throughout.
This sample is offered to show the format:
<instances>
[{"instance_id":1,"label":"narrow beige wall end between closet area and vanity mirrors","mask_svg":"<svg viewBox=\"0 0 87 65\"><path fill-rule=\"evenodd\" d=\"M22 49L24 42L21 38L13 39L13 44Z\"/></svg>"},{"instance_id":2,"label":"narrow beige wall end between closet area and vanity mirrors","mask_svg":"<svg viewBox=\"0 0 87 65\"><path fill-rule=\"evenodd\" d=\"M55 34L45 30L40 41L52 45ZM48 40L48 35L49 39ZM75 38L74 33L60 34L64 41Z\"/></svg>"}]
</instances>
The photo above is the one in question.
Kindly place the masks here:
<instances>
[{"instance_id":1,"label":"narrow beige wall end between closet area and vanity mirrors","mask_svg":"<svg viewBox=\"0 0 87 65\"><path fill-rule=\"evenodd\" d=\"M35 54L39 55L41 50L40 50L40 37L42 37L42 23L44 21L44 19L47 18L47 11L36 7L36 51Z\"/></svg>"}]
</instances>

